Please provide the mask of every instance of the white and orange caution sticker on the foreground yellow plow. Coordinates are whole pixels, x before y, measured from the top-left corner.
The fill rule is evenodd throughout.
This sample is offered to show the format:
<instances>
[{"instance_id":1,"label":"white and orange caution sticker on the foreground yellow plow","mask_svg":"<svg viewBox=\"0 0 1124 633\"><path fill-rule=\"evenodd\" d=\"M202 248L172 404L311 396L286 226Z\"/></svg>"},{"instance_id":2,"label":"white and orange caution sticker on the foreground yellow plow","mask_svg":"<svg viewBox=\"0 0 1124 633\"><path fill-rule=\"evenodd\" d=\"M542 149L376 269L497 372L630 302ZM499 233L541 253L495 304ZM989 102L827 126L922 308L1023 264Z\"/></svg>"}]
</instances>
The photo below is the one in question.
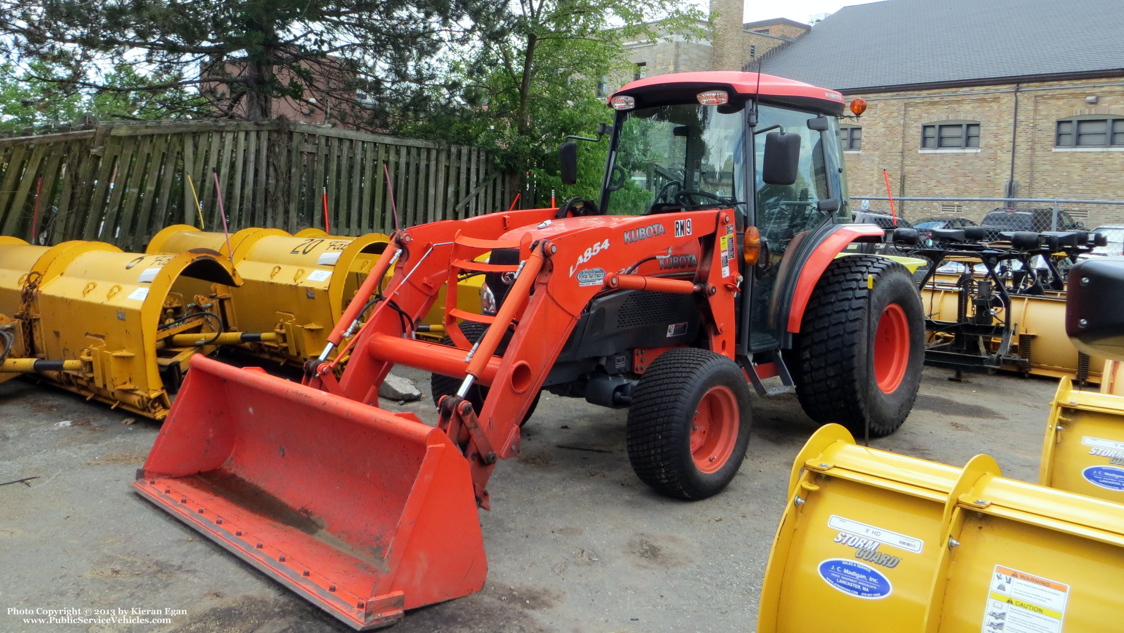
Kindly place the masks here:
<instances>
[{"instance_id":1,"label":"white and orange caution sticker on the foreground yellow plow","mask_svg":"<svg viewBox=\"0 0 1124 633\"><path fill-rule=\"evenodd\" d=\"M1069 585L995 566L981 633L1061 633Z\"/></svg>"}]
</instances>

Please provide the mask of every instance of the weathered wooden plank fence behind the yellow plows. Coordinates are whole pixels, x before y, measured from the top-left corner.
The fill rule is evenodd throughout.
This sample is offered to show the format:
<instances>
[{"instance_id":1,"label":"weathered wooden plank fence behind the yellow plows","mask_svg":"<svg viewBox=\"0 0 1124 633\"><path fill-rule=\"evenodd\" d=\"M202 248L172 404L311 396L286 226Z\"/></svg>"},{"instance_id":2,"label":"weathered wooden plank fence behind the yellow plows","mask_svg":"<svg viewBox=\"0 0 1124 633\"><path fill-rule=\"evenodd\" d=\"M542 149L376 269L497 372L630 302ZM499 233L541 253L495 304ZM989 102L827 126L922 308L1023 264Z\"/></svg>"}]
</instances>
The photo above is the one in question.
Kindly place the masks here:
<instances>
[{"instance_id":1,"label":"weathered wooden plank fence behind the yellow plows","mask_svg":"<svg viewBox=\"0 0 1124 633\"><path fill-rule=\"evenodd\" d=\"M305 124L106 123L0 138L0 234L38 244L137 251L170 224L223 230L220 210L232 232L325 228L325 193L335 235L390 233L392 209L413 226L504 210L515 196L475 147Z\"/></svg>"}]
</instances>

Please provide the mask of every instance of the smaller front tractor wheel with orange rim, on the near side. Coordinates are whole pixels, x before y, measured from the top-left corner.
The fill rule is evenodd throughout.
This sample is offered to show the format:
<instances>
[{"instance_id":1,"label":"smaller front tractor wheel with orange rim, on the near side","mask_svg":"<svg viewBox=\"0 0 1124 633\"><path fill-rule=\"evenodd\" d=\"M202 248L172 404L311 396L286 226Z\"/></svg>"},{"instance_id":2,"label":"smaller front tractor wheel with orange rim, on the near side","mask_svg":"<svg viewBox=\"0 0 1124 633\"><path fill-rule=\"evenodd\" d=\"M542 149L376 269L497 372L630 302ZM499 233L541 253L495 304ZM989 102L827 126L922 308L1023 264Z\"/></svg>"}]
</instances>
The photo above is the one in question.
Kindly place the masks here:
<instances>
[{"instance_id":1,"label":"smaller front tractor wheel with orange rim, on the near side","mask_svg":"<svg viewBox=\"0 0 1124 633\"><path fill-rule=\"evenodd\" d=\"M706 499L737 474L752 421L750 388L734 361L707 350L668 350L633 394L628 461L662 495Z\"/></svg>"}]
</instances>

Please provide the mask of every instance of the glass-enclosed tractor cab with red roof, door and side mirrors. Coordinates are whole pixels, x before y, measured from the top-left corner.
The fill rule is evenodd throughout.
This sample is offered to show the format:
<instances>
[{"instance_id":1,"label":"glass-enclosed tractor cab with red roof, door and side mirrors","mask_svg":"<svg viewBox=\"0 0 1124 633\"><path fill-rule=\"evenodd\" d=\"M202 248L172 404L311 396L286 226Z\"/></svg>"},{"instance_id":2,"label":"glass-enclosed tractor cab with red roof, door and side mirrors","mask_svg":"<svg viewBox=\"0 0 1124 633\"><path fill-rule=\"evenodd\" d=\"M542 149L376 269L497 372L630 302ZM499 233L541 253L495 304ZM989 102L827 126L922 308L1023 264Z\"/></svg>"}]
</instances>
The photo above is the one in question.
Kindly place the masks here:
<instances>
[{"instance_id":1,"label":"glass-enclosed tractor cab with red roof, door and side mirrors","mask_svg":"<svg viewBox=\"0 0 1124 633\"><path fill-rule=\"evenodd\" d=\"M699 72L628 83L609 106L616 117L598 212L733 209L740 251L747 227L756 251L752 274L743 274L738 351L790 346L791 288L777 292L781 269L798 269L812 246L851 221L839 138L843 96L765 74ZM575 160L572 141L561 157L565 180L577 171L566 164Z\"/></svg>"}]
</instances>

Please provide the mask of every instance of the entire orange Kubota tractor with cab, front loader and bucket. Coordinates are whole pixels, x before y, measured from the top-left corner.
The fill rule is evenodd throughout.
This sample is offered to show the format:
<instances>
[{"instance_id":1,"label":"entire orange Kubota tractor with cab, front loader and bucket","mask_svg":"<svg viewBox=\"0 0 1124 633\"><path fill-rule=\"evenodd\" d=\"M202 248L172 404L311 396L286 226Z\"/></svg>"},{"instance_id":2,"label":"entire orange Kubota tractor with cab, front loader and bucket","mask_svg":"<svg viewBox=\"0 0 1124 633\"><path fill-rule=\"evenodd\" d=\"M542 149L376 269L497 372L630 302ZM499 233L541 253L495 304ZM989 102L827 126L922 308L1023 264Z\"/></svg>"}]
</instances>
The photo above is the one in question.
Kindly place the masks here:
<instances>
[{"instance_id":1,"label":"entire orange Kubota tractor with cab, front loader and bucket","mask_svg":"<svg viewBox=\"0 0 1124 633\"><path fill-rule=\"evenodd\" d=\"M139 492L363 630L481 588L477 508L543 389L627 407L636 474L682 499L734 477L765 378L817 422L895 431L924 315L901 263L842 255L885 238L850 223L842 96L704 72L610 105L599 200L395 233L302 385L192 358ZM477 274L483 314L456 307ZM448 337L420 341L442 287ZM436 427L379 408L395 364L433 372Z\"/></svg>"}]
</instances>

